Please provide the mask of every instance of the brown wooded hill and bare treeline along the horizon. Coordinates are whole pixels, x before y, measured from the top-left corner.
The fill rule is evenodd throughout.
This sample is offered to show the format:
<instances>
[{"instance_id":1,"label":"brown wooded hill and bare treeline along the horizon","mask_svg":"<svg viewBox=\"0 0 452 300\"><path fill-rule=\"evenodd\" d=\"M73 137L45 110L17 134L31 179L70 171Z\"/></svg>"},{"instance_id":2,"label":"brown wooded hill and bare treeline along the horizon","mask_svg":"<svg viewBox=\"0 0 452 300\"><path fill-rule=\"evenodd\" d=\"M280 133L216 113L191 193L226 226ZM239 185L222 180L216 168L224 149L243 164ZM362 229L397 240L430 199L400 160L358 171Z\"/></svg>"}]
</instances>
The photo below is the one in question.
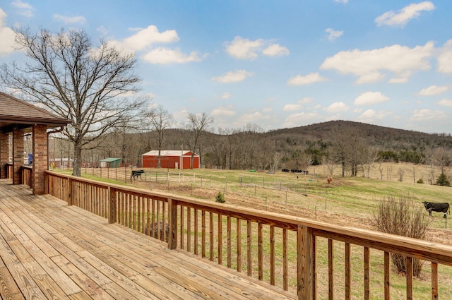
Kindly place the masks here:
<instances>
[{"instance_id":1,"label":"brown wooded hill and bare treeline along the horizon","mask_svg":"<svg viewBox=\"0 0 452 300\"><path fill-rule=\"evenodd\" d=\"M357 166L378 160L448 166L452 157L450 133L430 134L352 121L267 132L256 125L220 128L215 133L203 132L196 149L190 148L191 138L188 129L165 129L162 150L194 150L201 155L201 164L218 169L303 169L311 164L340 162L347 164L352 174L359 172L353 170ZM158 150L155 131L117 131L95 150L85 152L84 161L121 157L126 164L139 166L141 155L149 150ZM434 161L433 157L441 158Z\"/></svg>"}]
</instances>

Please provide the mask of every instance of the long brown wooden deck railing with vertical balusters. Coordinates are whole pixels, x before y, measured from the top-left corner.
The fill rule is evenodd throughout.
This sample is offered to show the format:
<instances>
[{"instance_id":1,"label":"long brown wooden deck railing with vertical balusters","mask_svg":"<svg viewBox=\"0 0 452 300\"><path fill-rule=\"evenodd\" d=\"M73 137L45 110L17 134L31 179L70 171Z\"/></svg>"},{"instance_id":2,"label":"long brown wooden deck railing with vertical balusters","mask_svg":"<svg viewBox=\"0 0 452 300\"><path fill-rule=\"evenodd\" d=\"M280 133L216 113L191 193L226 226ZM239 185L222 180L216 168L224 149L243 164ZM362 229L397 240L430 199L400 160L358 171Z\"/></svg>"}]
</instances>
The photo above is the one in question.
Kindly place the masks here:
<instances>
[{"instance_id":1,"label":"long brown wooden deck railing with vertical balusters","mask_svg":"<svg viewBox=\"0 0 452 300\"><path fill-rule=\"evenodd\" d=\"M371 299L377 292L373 297L391 299L391 253L407 258L406 299L413 298L413 258L431 265L431 296L438 299L439 265L452 266L452 247L443 244L54 172L45 176L47 192L69 205L268 281L298 299L319 299L319 293L326 299ZM381 257L381 263L371 256ZM359 284L352 274L355 264L362 268ZM371 277L371 266L383 270L382 278Z\"/></svg>"}]
</instances>

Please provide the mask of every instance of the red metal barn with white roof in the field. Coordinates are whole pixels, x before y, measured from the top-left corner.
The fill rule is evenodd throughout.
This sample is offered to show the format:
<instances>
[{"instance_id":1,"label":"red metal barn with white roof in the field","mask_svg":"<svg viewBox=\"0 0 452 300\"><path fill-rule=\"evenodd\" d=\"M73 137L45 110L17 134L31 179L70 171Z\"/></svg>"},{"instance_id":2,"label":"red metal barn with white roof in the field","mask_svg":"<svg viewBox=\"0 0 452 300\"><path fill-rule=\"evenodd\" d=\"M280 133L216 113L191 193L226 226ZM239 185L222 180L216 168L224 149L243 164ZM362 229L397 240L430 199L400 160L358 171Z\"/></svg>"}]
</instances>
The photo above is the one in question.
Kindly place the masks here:
<instances>
[{"instance_id":1,"label":"red metal barn with white roof in the field","mask_svg":"<svg viewBox=\"0 0 452 300\"><path fill-rule=\"evenodd\" d=\"M190 169L191 151L161 150L160 167L165 169ZM158 150L151 150L141 155L143 168L156 168L158 165ZM194 154L193 169L199 169L199 155Z\"/></svg>"}]
</instances>

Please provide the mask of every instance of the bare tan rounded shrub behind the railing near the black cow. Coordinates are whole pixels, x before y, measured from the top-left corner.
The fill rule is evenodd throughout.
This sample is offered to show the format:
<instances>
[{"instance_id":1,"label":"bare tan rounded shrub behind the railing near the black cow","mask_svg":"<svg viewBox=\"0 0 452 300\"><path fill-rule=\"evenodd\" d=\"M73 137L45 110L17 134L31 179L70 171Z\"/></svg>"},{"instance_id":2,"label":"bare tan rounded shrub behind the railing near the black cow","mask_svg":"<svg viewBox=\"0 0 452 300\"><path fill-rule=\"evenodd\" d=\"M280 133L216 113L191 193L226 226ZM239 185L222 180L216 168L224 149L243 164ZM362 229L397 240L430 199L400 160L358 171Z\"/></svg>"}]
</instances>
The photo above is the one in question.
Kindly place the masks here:
<instances>
[{"instance_id":1,"label":"bare tan rounded shrub behind the railing near the black cow","mask_svg":"<svg viewBox=\"0 0 452 300\"><path fill-rule=\"evenodd\" d=\"M379 204L372 223L380 232L425 239L432 220L412 196L388 196ZM399 273L406 274L406 257L391 253L391 260ZM413 276L419 277L424 262L412 259Z\"/></svg>"}]
</instances>

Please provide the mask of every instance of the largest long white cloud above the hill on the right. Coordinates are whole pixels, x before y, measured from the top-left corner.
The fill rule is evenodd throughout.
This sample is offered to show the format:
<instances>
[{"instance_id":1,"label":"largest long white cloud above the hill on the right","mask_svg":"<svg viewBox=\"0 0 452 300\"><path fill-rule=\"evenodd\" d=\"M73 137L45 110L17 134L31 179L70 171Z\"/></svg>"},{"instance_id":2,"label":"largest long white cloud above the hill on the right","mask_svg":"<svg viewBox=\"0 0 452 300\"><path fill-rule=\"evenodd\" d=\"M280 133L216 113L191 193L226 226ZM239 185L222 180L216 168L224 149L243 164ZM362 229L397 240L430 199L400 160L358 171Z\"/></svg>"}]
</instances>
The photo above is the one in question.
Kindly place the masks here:
<instances>
[{"instance_id":1,"label":"largest long white cloud above the hill on the right","mask_svg":"<svg viewBox=\"0 0 452 300\"><path fill-rule=\"evenodd\" d=\"M400 83L406 82L414 71L428 70L428 58L433 52L433 42L414 48L396 44L372 50L354 49L326 58L320 68L352 73L358 76L356 83L374 83L384 78L382 71L389 71L394 73L392 82Z\"/></svg>"}]
</instances>

